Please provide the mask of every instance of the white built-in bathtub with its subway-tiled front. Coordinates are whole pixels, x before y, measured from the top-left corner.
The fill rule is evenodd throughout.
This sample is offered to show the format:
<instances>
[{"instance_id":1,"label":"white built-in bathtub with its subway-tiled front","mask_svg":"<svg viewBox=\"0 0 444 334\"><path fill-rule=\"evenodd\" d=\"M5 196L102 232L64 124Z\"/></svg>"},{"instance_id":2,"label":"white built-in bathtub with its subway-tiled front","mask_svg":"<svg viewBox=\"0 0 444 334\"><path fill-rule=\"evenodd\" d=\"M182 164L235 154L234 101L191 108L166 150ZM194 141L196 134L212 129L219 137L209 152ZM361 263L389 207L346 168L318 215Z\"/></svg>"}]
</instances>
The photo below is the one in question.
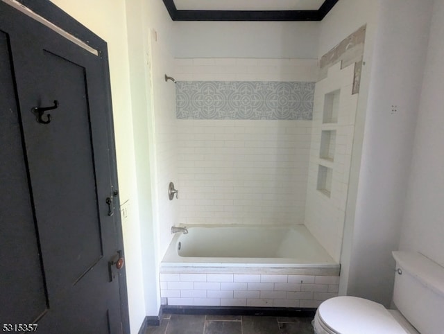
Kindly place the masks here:
<instances>
[{"instance_id":1,"label":"white built-in bathtub with its subway-tiled front","mask_svg":"<svg viewBox=\"0 0 444 334\"><path fill-rule=\"evenodd\" d=\"M160 265L167 306L317 308L339 291L340 265L304 225L192 225Z\"/></svg>"}]
</instances>

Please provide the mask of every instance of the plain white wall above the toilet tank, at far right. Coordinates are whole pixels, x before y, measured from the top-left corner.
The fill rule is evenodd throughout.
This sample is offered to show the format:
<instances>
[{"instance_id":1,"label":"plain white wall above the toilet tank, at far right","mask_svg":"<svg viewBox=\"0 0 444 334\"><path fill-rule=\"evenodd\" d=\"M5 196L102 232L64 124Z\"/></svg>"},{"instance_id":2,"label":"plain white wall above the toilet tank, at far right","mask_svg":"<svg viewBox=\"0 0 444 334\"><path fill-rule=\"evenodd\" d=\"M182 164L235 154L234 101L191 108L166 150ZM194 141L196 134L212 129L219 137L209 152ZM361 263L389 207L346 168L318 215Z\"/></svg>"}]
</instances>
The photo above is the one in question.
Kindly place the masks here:
<instances>
[{"instance_id":1,"label":"plain white wall above the toilet tank, at far right","mask_svg":"<svg viewBox=\"0 0 444 334\"><path fill-rule=\"evenodd\" d=\"M400 249L444 266L444 1L434 1Z\"/></svg>"}]
</instances>

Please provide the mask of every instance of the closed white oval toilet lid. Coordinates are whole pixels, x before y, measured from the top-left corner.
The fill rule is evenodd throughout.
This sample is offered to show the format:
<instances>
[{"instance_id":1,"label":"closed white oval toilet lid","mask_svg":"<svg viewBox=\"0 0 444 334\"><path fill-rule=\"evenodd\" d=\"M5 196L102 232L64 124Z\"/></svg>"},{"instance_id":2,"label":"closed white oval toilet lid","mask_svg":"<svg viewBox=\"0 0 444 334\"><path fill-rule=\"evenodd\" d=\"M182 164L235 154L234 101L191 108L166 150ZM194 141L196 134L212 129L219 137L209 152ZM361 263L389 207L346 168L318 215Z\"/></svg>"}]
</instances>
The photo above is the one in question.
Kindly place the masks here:
<instances>
[{"instance_id":1,"label":"closed white oval toilet lid","mask_svg":"<svg viewBox=\"0 0 444 334\"><path fill-rule=\"evenodd\" d=\"M333 333L407 333L384 306L358 297L328 299L319 306L318 316Z\"/></svg>"}]
</instances>

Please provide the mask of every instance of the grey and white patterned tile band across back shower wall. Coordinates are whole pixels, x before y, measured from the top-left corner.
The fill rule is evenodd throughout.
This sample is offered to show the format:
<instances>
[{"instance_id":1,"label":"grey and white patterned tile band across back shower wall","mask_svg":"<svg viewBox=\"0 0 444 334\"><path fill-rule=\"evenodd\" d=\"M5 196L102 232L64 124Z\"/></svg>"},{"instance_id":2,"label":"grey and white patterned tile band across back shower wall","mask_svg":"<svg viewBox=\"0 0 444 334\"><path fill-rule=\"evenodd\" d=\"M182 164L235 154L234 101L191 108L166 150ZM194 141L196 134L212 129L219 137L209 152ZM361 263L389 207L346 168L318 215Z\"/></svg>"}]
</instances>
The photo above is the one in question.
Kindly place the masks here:
<instances>
[{"instance_id":1,"label":"grey and white patterned tile band across back shower wall","mask_svg":"<svg viewBox=\"0 0 444 334\"><path fill-rule=\"evenodd\" d=\"M311 120L315 82L178 81L179 119Z\"/></svg>"}]
</instances>

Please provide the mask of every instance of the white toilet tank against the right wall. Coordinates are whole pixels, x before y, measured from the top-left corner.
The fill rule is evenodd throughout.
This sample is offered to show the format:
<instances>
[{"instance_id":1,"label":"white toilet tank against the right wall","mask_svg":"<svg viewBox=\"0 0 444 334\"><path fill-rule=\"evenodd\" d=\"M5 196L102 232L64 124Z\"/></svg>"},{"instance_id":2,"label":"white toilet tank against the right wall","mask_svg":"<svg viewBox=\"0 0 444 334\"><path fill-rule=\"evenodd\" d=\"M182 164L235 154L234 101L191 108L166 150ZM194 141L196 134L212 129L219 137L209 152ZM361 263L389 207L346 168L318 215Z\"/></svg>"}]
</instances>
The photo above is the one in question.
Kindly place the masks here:
<instances>
[{"instance_id":1,"label":"white toilet tank against the right wall","mask_svg":"<svg viewBox=\"0 0 444 334\"><path fill-rule=\"evenodd\" d=\"M422 334L444 334L444 267L416 252L393 252L393 302Z\"/></svg>"}]
</instances>

